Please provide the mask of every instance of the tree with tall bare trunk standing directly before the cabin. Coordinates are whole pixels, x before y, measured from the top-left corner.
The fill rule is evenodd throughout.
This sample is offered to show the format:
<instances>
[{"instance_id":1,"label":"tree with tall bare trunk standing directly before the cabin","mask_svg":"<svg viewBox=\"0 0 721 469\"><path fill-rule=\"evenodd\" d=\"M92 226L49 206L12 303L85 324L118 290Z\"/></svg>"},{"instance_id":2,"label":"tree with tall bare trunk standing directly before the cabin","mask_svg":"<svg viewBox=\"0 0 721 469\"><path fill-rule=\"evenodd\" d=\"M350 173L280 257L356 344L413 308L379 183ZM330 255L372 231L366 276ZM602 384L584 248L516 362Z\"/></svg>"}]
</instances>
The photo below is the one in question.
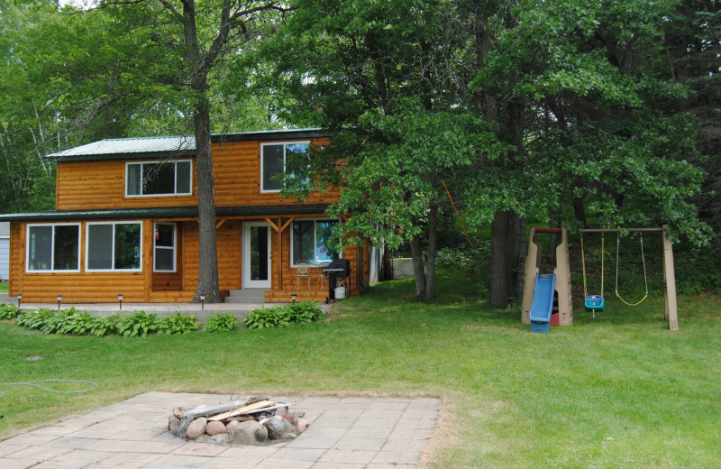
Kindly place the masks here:
<instances>
[{"instance_id":1,"label":"tree with tall bare trunk standing directly before the cabin","mask_svg":"<svg viewBox=\"0 0 721 469\"><path fill-rule=\"evenodd\" d=\"M253 0L101 0L128 34L143 39L137 69L128 84L142 97L160 93L183 103L196 143L200 259L195 300L220 300L211 154L210 81L229 55L262 34L283 12L281 2ZM161 55L162 58L158 58Z\"/></svg>"}]
</instances>

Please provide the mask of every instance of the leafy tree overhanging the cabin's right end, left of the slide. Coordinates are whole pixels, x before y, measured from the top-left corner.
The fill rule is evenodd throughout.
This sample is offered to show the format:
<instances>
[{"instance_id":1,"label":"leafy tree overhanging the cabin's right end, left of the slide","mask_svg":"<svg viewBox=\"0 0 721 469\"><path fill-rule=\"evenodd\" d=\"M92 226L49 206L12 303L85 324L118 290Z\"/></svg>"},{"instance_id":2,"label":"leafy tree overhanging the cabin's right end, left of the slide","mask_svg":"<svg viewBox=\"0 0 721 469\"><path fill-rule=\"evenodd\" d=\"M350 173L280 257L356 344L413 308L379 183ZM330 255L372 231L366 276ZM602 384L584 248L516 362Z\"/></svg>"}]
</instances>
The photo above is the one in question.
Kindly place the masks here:
<instances>
[{"instance_id":1,"label":"leafy tree overhanging the cabin's right end, left of the slide","mask_svg":"<svg viewBox=\"0 0 721 469\"><path fill-rule=\"evenodd\" d=\"M459 106L452 62L463 38L444 32L452 2L295 5L283 34L262 50L273 59L267 86L288 120L337 134L291 168L307 167L310 178L288 178L286 194L342 187L329 211L347 216L336 234L408 243L416 299L432 301L437 220L448 200L443 181L477 174L480 161L503 151L490 127Z\"/></svg>"}]
</instances>

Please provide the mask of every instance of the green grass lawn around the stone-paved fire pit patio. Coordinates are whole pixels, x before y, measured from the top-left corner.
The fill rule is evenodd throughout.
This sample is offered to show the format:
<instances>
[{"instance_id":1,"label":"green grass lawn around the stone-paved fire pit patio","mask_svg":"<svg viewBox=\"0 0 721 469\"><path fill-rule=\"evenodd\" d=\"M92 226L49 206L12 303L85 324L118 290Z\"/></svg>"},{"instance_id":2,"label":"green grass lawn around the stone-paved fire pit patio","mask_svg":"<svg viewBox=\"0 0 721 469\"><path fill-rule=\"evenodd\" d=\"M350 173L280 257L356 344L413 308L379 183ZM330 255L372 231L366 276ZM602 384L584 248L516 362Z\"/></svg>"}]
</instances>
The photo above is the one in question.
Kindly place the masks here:
<instances>
[{"instance_id":1,"label":"green grass lawn around the stone-paved fire pit patio","mask_svg":"<svg viewBox=\"0 0 721 469\"><path fill-rule=\"evenodd\" d=\"M698 468L721 461L719 298L577 307L532 334L441 271L434 305L411 280L336 305L324 323L145 338L45 336L0 322L0 382L97 382L50 394L0 387L0 438L144 391L423 394L444 399L424 467ZM42 357L28 360L28 357ZM183 402L178 402L182 405Z\"/></svg>"}]
</instances>

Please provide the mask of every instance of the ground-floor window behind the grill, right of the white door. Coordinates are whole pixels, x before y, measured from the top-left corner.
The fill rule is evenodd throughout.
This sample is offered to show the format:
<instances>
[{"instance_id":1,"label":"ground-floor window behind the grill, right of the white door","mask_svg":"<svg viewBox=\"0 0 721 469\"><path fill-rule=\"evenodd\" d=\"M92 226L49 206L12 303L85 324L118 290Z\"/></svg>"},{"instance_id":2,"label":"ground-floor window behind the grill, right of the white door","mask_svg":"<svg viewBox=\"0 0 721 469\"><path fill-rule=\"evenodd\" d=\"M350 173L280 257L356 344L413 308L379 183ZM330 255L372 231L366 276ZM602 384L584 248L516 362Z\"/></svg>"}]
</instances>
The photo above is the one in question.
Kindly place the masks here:
<instances>
[{"instance_id":1,"label":"ground-floor window behind the grill, right of the white door","mask_svg":"<svg viewBox=\"0 0 721 469\"><path fill-rule=\"evenodd\" d=\"M324 264L342 257L329 245L335 219L301 218L293 221L290 230L290 264L297 266L300 261Z\"/></svg>"}]
</instances>

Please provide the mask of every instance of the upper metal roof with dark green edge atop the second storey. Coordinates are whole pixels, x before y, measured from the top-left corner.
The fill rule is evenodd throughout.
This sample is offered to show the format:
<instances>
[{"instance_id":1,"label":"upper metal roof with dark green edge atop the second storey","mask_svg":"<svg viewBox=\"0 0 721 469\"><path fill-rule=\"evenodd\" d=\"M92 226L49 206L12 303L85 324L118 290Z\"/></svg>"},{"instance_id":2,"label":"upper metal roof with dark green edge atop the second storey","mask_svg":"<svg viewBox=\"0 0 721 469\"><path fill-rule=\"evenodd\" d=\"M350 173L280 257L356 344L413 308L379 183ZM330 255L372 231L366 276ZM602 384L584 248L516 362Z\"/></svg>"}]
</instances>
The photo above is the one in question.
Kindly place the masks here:
<instances>
[{"instance_id":1,"label":"upper metal roof with dark green edge atop the second storey","mask_svg":"<svg viewBox=\"0 0 721 469\"><path fill-rule=\"evenodd\" d=\"M286 140L329 136L321 129L286 129L211 135L214 143ZM196 138L187 136L105 139L47 155L51 161L138 160L196 154Z\"/></svg>"}]
</instances>

